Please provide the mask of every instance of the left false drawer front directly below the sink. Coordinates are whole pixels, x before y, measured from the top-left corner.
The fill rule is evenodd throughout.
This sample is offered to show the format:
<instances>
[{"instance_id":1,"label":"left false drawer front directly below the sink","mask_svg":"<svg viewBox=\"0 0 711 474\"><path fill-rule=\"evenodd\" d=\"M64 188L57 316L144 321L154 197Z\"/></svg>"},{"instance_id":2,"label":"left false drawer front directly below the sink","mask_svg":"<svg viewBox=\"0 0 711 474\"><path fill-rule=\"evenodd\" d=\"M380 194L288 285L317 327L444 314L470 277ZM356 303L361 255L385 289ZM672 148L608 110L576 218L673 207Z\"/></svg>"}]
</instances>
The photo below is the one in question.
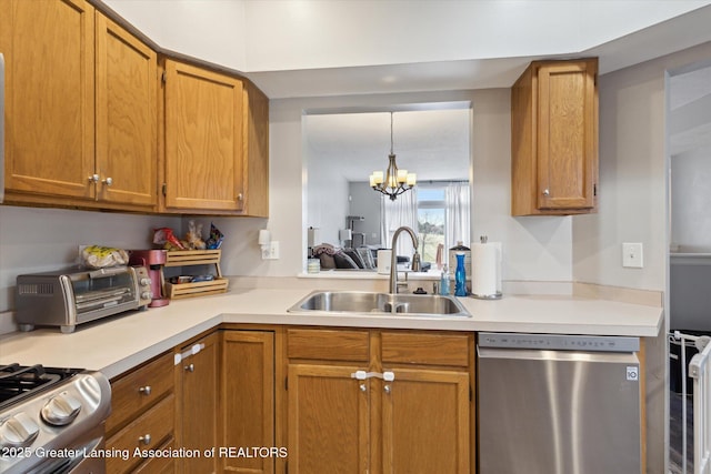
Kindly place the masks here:
<instances>
[{"instance_id":1,"label":"left false drawer front directly below the sink","mask_svg":"<svg viewBox=\"0 0 711 474\"><path fill-rule=\"evenodd\" d=\"M289 359L368 362L368 331L289 330Z\"/></svg>"}]
</instances>

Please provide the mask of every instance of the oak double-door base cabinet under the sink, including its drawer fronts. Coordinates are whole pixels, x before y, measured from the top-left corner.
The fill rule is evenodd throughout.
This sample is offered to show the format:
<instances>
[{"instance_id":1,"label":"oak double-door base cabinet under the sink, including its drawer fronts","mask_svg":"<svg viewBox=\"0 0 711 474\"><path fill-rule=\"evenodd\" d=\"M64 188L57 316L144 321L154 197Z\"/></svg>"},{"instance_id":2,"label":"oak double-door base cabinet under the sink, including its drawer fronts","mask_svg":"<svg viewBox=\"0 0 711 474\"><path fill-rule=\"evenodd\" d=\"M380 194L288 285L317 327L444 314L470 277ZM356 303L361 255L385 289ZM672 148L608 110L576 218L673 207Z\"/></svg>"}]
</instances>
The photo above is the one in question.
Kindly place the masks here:
<instances>
[{"instance_id":1,"label":"oak double-door base cabinet under the sink, including its drawer fronts","mask_svg":"<svg viewBox=\"0 0 711 474\"><path fill-rule=\"evenodd\" d=\"M289 473L473 472L470 335L297 329L287 337Z\"/></svg>"}]
</instances>

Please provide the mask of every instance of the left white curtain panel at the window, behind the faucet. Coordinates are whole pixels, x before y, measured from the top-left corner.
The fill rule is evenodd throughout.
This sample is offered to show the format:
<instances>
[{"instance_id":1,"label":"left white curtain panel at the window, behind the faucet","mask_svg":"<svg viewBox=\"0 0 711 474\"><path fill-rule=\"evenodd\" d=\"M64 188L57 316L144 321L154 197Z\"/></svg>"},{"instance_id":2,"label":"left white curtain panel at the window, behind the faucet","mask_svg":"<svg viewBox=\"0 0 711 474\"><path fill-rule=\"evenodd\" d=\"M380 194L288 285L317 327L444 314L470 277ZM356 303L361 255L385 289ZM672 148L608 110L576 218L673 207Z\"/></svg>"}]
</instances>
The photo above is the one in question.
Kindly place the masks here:
<instances>
[{"instance_id":1,"label":"left white curtain panel at the window, behind the faucet","mask_svg":"<svg viewBox=\"0 0 711 474\"><path fill-rule=\"evenodd\" d=\"M414 233L418 233L418 194L417 188L400 194L398 199L391 201L389 196L382 195L380 198L381 210L381 225L380 225L380 242L385 249L390 248L392 243L392 235L398 228L407 225L412 229ZM412 241L409 236L402 236L398 239L397 245L398 255L412 255L414 249Z\"/></svg>"}]
</instances>

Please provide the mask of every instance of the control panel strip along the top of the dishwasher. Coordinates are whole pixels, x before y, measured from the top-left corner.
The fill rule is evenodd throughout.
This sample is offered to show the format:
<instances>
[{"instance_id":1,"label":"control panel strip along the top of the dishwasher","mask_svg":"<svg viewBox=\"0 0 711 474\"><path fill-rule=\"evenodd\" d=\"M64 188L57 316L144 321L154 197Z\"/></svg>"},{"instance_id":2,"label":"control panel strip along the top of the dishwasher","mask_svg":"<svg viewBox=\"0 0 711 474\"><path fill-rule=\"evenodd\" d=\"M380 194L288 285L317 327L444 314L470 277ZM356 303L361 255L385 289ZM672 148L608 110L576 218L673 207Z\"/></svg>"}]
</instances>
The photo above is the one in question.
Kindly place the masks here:
<instances>
[{"instance_id":1,"label":"control panel strip along the top of the dishwasher","mask_svg":"<svg viewBox=\"0 0 711 474\"><path fill-rule=\"evenodd\" d=\"M607 335L480 332L479 346L541 351L638 352L640 339Z\"/></svg>"}]
</instances>

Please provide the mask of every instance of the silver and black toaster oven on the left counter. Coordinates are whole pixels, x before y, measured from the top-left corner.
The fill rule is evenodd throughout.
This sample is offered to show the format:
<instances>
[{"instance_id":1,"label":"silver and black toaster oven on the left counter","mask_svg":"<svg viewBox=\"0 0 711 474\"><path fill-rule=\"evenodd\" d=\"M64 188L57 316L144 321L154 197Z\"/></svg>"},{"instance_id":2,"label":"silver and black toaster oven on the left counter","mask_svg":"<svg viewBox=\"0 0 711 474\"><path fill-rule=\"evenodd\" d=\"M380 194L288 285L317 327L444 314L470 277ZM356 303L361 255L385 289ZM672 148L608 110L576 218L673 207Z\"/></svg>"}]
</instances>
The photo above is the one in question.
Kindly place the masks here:
<instances>
[{"instance_id":1,"label":"silver and black toaster oven on the left counter","mask_svg":"<svg viewBox=\"0 0 711 474\"><path fill-rule=\"evenodd\" d=\"M82 268L18 275L16 321L20 331L59 326L71 333L77 324L146 309L151 281L144 266Z\"/></svg>"}]
</instances>

